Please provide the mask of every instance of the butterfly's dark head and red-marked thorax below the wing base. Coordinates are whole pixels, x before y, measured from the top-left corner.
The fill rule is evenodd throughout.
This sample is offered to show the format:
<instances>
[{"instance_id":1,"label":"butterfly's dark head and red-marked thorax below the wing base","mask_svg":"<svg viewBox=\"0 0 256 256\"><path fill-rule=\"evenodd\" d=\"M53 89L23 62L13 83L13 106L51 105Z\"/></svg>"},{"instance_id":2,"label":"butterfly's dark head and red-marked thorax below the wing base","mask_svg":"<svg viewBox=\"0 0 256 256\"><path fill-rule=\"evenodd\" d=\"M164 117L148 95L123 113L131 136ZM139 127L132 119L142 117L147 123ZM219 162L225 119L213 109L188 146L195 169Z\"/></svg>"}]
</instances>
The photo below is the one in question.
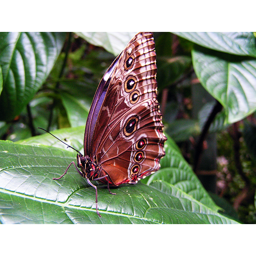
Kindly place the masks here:
<instances>
[{"instance_id":1,"label":"butterfly's dark head and red-marked thorax below the wing base","mask_svg":"<svg viewBox=\"0 0 256 256\"><path fill-rule=\"evenodd\" d=\"M100 168L92 162L89 156L77 154L77 167L81 169L79 174L87 179L93 179L100 173Z\"/></svg>"}]
</instances>

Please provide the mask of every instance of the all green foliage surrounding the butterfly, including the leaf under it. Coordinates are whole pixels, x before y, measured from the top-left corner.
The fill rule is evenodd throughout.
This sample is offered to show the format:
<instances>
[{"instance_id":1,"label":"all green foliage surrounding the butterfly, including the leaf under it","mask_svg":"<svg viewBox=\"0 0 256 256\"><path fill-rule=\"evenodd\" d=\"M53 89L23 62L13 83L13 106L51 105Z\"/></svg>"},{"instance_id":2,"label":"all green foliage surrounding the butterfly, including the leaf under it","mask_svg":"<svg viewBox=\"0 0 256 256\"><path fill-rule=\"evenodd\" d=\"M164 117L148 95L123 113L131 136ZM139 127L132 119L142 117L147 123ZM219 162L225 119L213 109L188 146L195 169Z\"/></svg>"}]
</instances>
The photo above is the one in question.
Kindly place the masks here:
<instances>
[{"instance_id":1,"label":"all green foliage surrounding the butterfly, including the leaf under it","mask_svg":"<svg viewBox=\"0 0 256 256\"><path fill-rule=\"evenodd\" d=\"M166 156L117 195L100 186L102 218L74 168L52 180L76 154L37 127L82 151L97 85L135 34L0 33L2 223L256 223L251 32L154 33Z\"/></svg>"}]
</instances>

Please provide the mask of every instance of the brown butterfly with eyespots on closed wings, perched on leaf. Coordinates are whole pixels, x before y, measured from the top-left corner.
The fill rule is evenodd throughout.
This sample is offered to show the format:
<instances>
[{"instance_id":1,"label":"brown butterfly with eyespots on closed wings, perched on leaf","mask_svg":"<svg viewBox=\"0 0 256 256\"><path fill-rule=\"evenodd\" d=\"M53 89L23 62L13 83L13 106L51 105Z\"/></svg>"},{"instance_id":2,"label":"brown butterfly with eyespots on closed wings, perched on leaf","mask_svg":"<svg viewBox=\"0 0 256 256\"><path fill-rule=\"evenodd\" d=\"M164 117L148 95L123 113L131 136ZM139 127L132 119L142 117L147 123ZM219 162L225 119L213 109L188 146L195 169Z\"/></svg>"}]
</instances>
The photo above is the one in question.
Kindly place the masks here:
<instances>
[{"instance_id":1,"label":"brown butterfly with eyespots on closed wings, perched on leaf","mask_svg":"<svg viewBox=\"0 0 256 256\"><path fill-rule=\"evenodd\" d=\"M135 184L160 168L164 157L162 114L157 101L153 34L133 37L102 77L84 134L84 155L77 151L77 172L109 186ZM72 147L71 147L72 148Z\"/></svg>"}]
</instances>

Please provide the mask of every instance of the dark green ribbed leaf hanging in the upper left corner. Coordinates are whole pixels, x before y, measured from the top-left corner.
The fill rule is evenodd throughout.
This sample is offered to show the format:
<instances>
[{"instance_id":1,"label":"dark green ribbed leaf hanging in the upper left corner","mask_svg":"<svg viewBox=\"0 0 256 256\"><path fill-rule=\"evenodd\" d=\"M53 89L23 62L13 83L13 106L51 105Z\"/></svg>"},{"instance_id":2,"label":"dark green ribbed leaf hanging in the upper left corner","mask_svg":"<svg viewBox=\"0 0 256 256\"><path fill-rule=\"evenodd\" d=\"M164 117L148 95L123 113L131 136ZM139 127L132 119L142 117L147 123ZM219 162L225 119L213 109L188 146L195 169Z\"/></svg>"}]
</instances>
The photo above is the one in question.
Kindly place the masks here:
<instances>
[{"instance_id":1,"label":"dark green ribbed leaf hanging in the upper left corner","mask_svg":"<svg viewBox=\"0 0 256 256\"><path fill-rule=\"evenodd\" d=\"M57 32L0 33L0 120L13 119L34 97L59 56L65 36Z\"/></svg>"}]
</instances>

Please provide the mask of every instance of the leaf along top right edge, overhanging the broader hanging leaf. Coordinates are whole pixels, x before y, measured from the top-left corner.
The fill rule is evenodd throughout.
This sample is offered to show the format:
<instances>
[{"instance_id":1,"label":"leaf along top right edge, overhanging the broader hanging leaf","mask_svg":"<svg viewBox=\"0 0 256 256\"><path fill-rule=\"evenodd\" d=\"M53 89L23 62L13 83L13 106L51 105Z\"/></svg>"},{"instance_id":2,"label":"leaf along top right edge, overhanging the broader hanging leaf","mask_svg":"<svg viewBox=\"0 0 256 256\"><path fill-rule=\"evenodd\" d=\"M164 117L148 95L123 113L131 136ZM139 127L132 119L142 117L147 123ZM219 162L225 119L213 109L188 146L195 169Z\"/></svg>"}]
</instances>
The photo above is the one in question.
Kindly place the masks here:
<instances>
[{"instance_id":1,"label":"leaf along top right edge, overhanging the broader hanging leaf","mask_svg":"<svg viewBox=\"0 0 256 256\"><path fill-rule=\"evenodd\" d=\"M206 48L226 53L256 57L253 32L173 32Z\"/></svg>"}]
</instances>

